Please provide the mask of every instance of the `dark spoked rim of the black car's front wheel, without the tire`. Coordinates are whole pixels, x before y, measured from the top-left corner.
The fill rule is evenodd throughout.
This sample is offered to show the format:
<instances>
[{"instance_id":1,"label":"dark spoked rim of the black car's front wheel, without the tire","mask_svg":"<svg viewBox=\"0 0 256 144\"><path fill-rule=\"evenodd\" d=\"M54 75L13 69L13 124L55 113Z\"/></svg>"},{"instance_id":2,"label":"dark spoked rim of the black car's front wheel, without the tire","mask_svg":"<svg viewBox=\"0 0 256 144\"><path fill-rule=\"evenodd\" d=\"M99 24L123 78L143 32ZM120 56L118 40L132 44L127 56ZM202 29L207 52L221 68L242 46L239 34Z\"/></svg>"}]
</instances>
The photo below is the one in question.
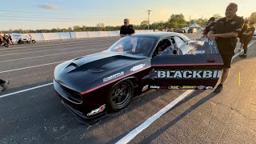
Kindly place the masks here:
<instances>
[{"instance_id":1,"label":"dark spoked rim of the black car's front wheel, without the tire","mask_svg":"<svg viewBox=\"0 0 256 144\"><path fill-rule=\"evenodd\" d=\"M117 86L114 86L114 89L111 93L111 101L115 106L123 106L126 104L131 94L131 87L128 83L122 82Z\"/></svg>"}]
</instances>

